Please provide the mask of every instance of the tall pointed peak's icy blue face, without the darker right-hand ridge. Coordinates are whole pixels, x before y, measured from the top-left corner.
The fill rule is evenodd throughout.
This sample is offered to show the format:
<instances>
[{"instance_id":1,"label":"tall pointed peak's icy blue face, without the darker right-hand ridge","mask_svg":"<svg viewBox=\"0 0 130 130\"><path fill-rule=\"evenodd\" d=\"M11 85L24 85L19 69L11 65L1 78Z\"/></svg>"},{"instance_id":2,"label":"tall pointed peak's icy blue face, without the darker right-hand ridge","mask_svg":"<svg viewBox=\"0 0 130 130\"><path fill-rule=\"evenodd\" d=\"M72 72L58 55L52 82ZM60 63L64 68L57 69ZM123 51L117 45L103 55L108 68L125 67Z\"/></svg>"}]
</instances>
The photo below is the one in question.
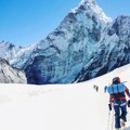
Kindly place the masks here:
<instances>
[{"instance_id":1,"label":"tall pointed peak's icy blue face, without the darker right-hand ridge","mask_svg":"<svg viewBox=\"0 0 130 130\"><path fill-rule=\"evenodd\" d=\"M83 0L54 31L28 49L30 53L21 53L12 65L25 69L28 83L73 82L100 46L109 22L93 0Z\"/></svg>"}]
</instances>

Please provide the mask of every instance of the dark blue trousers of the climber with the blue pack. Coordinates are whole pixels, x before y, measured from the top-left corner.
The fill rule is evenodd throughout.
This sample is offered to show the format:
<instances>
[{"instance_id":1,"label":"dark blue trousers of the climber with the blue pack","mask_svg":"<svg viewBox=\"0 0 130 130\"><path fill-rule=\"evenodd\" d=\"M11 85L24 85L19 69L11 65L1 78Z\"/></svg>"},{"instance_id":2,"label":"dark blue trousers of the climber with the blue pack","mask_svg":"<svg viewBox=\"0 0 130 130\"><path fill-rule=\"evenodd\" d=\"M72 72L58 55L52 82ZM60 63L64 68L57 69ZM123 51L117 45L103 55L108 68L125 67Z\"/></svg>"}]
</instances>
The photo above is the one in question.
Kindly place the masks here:
<instances>
[{"instance_id":1,"label":"dark blue trousers of the climber with the blue pack","mask_svg":"<svg viewBox=\"0 0 130 130\"><path fill-rule=\"evenodd\" d=\"M127 104L123 100L114 101L115 128L120 128L120 119L127 121Z\"/></svg>"}]
</instances>

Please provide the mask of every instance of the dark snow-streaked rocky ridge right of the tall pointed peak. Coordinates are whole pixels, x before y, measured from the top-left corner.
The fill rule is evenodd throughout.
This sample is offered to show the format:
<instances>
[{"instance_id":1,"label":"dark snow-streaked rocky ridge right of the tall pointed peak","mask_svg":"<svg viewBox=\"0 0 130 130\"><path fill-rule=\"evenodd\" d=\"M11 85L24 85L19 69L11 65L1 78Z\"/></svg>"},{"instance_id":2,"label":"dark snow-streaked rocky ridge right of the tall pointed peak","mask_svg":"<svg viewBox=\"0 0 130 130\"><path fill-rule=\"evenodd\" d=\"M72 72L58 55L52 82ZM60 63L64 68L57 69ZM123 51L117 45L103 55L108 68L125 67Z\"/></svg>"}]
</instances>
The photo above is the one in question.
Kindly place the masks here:
<instances>
[{"instance_id":1,"label":"dark snow-streaked rocky ridge right of the tall pointed peak","mask_svg":"<svg viewBox=\"0 0 130 130\"><path fill-rule=\"evenodd\" d=\"M130 16L118 16L106 27L101 46L77 80L84 81L130 63Z\"/></svg>"}]
</instances>

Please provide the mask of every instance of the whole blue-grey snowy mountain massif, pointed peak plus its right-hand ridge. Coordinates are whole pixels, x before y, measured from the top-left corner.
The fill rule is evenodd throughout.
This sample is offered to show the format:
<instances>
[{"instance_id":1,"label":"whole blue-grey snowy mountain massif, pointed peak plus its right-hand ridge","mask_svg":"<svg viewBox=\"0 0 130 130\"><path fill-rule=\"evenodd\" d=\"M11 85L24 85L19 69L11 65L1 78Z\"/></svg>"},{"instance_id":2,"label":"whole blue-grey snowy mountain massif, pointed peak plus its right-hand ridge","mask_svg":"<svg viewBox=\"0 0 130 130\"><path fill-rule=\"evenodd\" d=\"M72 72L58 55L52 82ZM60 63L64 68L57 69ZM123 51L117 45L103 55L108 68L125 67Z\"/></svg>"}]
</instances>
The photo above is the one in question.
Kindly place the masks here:
<instances>
[{"instance_id":1,"label":"whole blue-grey snowy mountain massif, pointed peak plus its right-hand ridge","mask_svg":"<svg viewBox=\"0 0 130 130\"><path fill-rule=\"evenodd\" d=\"M94 0L82 0L44 40L10 60L28 83L84 81L130 63L130 17L107 17Z\"/></svg>"}]
</instances>

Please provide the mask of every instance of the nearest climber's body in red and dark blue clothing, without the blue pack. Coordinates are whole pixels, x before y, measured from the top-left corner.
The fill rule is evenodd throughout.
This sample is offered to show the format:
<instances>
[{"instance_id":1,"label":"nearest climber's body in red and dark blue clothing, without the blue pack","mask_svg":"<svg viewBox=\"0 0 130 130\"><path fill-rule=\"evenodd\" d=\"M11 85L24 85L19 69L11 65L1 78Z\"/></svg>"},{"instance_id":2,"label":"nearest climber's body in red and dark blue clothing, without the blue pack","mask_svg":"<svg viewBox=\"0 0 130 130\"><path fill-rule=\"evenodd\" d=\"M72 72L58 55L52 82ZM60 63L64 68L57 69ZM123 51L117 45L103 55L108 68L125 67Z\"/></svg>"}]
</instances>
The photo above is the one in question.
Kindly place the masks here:
<instances>
[{"instance_id":1,"label":"nearest climber's body in red and dark blue clothing, without the blue pack","mask_svg":"<svg viewBox=\"0 0 130 130\"><path fill-rule=\"evenodd\" d=\"M113 84L119 84L120 78L115 77L113 79ZM127 121L127 99L126 94L130 98L129 89L126 87L126 90L123 92L113 93L109 96L110 104L114 104L115 109L115 128L117 130L120 129L120 127L125 127L125 122ZM121 112L121 114L120 114ZM121 120L121 121L120 121ZM120 126L121 123L121 126Z\"/></svg>"}]
</instances>

